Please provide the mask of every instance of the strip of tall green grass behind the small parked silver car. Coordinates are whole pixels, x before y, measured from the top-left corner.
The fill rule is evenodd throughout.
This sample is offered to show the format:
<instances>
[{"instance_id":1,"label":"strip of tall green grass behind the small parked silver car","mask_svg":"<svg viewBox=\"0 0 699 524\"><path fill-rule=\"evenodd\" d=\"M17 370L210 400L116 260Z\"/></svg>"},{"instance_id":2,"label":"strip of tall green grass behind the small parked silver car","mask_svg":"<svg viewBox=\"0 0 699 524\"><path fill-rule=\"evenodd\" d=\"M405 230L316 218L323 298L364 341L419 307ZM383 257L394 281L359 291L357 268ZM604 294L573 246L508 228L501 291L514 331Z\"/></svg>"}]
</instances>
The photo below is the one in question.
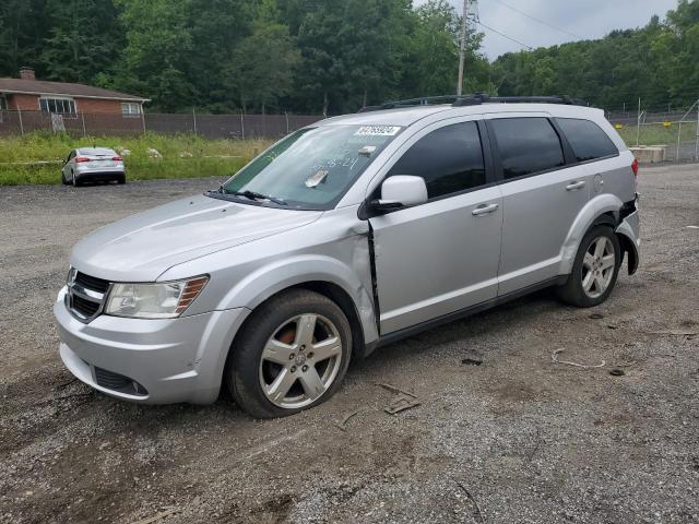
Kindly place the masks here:
<instances>
[{"instance_id":1,"label":"strip of tall green grass behind the small parked silver car","mask_svg":"<svg viewBox=\"0 0 699 524\"><path fill-rule=\"evenodd\" d=\"M206 140L194 135L86 136L36 132L0 139L0 186L60 183L60 168L72 148L93 145L129 150L129 180L223 177L237 172L270 145L266 140ZM153 158L149 148L163 155ZM37 164L51 162L50 164Z\"/></svg>"}]
</instances>

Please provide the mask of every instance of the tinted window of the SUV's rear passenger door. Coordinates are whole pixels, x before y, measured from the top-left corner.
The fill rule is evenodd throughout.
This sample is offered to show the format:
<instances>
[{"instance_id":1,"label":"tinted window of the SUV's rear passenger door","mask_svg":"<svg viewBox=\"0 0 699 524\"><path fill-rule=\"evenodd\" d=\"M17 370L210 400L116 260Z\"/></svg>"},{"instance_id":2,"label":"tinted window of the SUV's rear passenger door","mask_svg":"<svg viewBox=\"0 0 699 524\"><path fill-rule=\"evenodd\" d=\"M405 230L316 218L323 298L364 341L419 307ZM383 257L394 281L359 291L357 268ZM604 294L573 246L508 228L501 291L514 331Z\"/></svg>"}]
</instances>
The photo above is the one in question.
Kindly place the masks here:
<instances>
[{"instance_id":1,"label":"tinted window of the SUV's rear passenger door","mask_svg":"<svg viewBox=\"0 0 699 524\"><path fill-rule=\"evenodd\" d=\"M490 121L500 151L505 179L554 169L565 164L556 130L546 118L502 118Z\"/></svg>"}]
</instances>

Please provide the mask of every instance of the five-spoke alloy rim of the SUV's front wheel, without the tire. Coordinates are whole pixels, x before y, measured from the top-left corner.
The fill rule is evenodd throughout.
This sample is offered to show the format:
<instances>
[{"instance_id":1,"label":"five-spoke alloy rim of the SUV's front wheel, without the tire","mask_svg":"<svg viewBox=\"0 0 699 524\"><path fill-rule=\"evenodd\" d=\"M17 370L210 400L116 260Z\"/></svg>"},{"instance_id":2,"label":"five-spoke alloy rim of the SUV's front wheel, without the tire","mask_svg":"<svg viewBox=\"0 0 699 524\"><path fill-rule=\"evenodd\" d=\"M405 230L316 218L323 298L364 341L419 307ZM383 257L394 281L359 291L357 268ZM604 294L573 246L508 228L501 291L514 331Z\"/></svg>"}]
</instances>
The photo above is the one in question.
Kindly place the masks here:
<instances>
[{"instance_id":1,"label":"five-spoke alloy rim of the SUV's front wheel, without the tire","mask_svg":"<svg viewBox=\"0 0 699 524\"><path fill-rule=\"evenodd\" d=\"M337 327L320 314L299 314L282 323L264 345L260 385L275 406L297 409L328 391L341 366Z\"/></svg>"}]
</instances>

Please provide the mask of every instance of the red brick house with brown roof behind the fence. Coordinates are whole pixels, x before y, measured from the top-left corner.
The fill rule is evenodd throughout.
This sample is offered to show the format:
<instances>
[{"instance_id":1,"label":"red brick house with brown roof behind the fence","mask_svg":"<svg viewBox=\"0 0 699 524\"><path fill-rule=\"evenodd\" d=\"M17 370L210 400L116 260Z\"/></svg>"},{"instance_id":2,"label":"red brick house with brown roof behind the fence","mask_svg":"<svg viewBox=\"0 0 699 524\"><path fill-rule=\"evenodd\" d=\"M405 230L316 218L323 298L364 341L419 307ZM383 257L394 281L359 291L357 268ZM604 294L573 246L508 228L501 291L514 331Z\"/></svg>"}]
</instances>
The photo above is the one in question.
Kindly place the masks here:
<instances>
[{"instance_id":1,"label":"red brick house with brown roof behind the fence","mask_svg":"<svg viewBox=\"0 0 699 524\"><path fill-rule=\"evenodd\" d=\"M84 130L86 122L137 130L142 127L146 102L150 99L92 85L36 80L32 68L22 68L19 79L0 79L0 124L14 121L22 132L50 127L55 115L60 115L68 131Z\"/></svg>"}]
</instances>

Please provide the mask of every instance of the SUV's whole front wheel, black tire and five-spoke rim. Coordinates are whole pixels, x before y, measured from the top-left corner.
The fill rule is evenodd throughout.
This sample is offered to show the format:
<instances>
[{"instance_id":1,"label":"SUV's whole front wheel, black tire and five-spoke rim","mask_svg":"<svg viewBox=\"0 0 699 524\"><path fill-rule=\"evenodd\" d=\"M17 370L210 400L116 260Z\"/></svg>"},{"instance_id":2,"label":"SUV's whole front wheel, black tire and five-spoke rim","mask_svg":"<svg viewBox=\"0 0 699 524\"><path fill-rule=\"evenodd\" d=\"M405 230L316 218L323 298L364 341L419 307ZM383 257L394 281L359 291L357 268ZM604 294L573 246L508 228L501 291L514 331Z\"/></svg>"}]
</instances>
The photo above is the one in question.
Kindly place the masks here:
<instances>
[{"instance_id":1,"label":"SUV's whole front wheel, black tire and five-spoke rim","mask_svg":"<svg viewBox=\"0 0 699 524\"><path fill-rule=\"evenodd\" d=\"M256 418L294 415L335 393L351 348L350 322L335 302L305 289L286 291L253 311L236 337L228 391Z\"/></svg>"}]
</instances>

